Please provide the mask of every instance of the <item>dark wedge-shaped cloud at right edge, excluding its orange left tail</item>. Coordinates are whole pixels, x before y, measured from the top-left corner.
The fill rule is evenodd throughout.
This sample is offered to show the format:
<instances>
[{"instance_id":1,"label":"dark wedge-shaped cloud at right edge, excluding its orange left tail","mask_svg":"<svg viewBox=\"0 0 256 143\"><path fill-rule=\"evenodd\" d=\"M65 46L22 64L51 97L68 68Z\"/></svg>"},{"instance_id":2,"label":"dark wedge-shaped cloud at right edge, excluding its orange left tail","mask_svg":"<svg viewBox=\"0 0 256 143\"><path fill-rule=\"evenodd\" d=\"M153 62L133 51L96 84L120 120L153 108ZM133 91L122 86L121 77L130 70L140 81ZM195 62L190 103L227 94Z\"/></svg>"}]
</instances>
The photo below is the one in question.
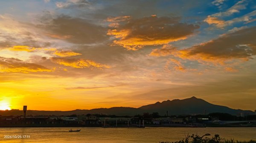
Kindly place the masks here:
<instances>
[{"instance_id":1,"label":"dark wedge-shaped cloud at right edge, excluding its orange left tail","mask_svg":"<svg viewBox=\"0 0 256 143\"><path fill-rule=\"evenodd\" d=\"M181 51L186 58L214 59L245 59L256 55L256 27L242 29L225 34L209 42L195 45ZM195 57L198 56L198 57Z\"/></svg>"}]
</instances>

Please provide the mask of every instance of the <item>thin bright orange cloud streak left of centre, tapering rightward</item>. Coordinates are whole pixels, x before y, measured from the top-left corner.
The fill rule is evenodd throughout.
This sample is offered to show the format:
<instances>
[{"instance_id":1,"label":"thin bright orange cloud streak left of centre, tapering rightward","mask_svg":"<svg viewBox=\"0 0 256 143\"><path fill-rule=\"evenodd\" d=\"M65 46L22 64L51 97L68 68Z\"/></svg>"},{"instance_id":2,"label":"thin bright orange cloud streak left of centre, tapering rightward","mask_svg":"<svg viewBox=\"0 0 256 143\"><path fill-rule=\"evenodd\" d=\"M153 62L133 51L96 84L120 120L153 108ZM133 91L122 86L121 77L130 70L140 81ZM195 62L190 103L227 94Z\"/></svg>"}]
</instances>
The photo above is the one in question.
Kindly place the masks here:
<instances>
[{"instance_id":1,"label":"thin bright orange cloud streak left of centre, tapering rightward","mask_svg":"<svg viewBox=\"0 0 256 143\"><path fill-rule=\"evenodd\" d=\"M88 59L65 59L65 58L52 57L51 61L67 67L75 67L75 68L85 68L85 67L96 67L99 69L110 68L110 66L108 65L96 63Z\"/></svg>"}]
</instances>

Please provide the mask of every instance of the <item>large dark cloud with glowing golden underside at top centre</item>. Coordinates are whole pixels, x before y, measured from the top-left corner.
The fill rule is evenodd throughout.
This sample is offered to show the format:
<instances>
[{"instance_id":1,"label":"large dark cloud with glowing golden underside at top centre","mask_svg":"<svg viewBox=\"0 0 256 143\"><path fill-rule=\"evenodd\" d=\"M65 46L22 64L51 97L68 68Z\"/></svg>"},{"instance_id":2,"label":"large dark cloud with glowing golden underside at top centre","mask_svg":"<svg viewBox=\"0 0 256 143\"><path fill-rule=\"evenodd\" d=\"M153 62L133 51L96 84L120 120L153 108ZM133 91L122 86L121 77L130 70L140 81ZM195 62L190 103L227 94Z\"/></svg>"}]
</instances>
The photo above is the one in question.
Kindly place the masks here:
<instances>
[{"instance_id":1,"label":"large dark cloud with glowing golden underside at top centre","mask_svg":"<svg viewBox=\"0 0 256 143\"><path fill-rule=\"evenodd\" d=\"M112 22L107 35L116 40L112 45L119 45L127 50L138 50L147 45L164 45L169 42L186 39L199 28L198 25L179 22L179 17L131 17L108 18Z\"/></svg>"}]
</instances>

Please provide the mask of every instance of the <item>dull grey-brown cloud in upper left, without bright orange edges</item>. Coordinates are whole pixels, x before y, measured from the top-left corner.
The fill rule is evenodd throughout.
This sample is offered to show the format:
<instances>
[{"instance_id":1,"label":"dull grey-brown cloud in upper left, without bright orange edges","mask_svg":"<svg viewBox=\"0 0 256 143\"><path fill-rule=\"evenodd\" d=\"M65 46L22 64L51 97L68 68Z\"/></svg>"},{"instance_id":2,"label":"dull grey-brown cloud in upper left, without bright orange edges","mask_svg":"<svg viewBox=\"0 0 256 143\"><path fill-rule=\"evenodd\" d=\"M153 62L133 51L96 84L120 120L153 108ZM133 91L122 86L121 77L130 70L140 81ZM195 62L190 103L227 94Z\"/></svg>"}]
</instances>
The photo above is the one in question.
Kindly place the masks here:
<instances>
[{"instance_id":1,"label":"dull grey-brown cloud in upper left, without bright orange edges","mask_svg":"<svg viewBox=\"0 0 256 143\"><path fill-rule=\"evenodd\" d=\"M48 36L76 44L92 44L108 39L106 28L80 18L62 15L41 26Z\"/></svg>"}]
</instances>

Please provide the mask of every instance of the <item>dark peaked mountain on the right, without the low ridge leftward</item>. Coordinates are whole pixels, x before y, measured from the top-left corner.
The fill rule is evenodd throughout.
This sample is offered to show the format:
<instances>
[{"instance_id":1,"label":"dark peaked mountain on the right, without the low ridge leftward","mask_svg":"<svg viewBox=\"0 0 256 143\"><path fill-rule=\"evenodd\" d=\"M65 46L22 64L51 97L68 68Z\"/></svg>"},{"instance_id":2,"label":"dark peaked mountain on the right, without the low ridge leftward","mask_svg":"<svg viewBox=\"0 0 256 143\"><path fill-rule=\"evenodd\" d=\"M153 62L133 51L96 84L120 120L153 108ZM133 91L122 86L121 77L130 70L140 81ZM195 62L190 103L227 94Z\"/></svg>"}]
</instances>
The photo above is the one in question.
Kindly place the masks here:
<instances>
[{"instance_id":1,"label":"dark peaked mountain on the right, without the low ridge leftward","mask_svg":"<svg viewBox=\"0 0 256 143\"><path fill-rule=\"evenodd\" d=\"M193 115L204 114L204 112L207 114L212 112L222 112L231 115L240 115L241 112L244 113L244 115L251 115L254 113L250 110L231 109L225 106L210 104L209 102L194 96L183 100L175 99L172 101L163 101L162 103L157 102L155 104L142 106L139 109L147 112L159 112L160 115L165 115L166 111L168 111L169 115Z\"/></svg>"}]
</instances>

